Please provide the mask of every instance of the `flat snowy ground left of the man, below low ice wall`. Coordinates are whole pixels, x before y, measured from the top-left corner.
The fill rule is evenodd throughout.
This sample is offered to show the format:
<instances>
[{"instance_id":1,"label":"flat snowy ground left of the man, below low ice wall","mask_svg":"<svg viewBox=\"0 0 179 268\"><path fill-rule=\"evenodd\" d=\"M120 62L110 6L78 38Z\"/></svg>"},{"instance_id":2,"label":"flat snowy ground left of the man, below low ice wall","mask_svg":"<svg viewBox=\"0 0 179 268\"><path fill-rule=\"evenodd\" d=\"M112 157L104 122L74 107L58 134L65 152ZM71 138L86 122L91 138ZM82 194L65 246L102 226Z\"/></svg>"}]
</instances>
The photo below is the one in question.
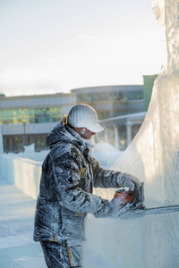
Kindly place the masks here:
<instances>
[{"instance_id":1,"label":"flat snowy ground left of the man, below low ice wall","mask_svg":"<svg viewBox=\"0 0 179 268\"><path fill-rule=\"evenodd\" d=\"M34 199L25 195L14 185L7 185L7 181L1 183L0 267L11 268L13 259L24 255L33 257L41 253L41 248L32 239L35 204ZM41 262L43 262L43 259Z\"/></svg>"}]
</instances>

